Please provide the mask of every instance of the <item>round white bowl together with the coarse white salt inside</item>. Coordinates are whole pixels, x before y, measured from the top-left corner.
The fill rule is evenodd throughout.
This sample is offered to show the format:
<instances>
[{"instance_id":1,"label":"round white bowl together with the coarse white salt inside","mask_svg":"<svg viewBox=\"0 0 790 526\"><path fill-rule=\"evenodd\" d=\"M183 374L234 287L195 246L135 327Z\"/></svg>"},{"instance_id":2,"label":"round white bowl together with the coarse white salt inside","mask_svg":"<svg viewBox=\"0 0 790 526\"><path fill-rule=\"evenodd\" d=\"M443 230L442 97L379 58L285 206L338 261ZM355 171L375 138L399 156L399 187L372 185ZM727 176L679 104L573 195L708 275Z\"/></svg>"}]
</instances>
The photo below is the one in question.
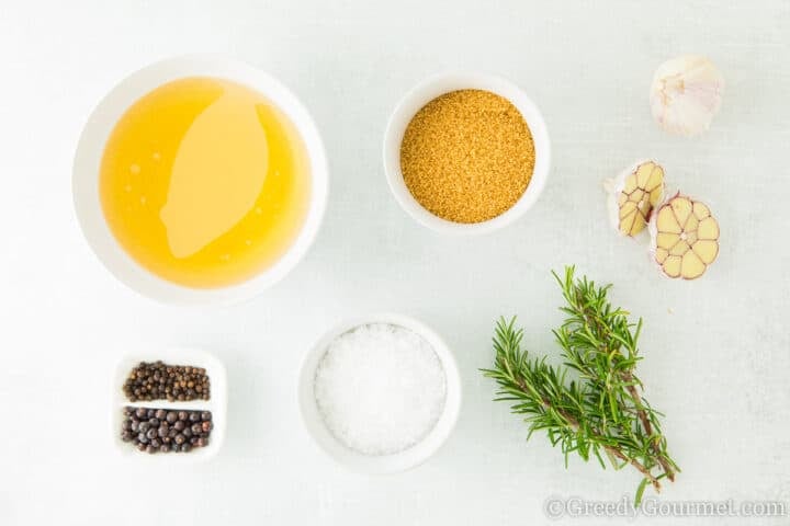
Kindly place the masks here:
<instances>
[{"instance_id":1,"label":"round white bowl together with the coarse white salt inside","mask_svg":"<svg viewBox=\"0 0 790 526\"><path fill-rule=\"evenodd\" d=\"M404 471L447 441L461 409L452 353L431 329L400 315L345 321L307 353L300 409L316 444L364 473Z\"/></svg>"}]
</instances>

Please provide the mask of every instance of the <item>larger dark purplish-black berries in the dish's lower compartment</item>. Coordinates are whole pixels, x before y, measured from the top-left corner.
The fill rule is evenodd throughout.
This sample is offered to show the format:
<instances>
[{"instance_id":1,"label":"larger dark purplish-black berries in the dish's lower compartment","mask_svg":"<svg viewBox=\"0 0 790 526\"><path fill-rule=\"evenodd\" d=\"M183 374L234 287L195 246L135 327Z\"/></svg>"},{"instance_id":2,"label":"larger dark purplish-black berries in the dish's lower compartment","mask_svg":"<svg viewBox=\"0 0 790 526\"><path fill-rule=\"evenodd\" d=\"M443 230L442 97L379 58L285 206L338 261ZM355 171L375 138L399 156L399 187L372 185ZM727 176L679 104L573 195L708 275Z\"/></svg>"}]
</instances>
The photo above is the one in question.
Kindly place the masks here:
<instances>
[{"instance_id":1,"label":"larger dark purplish-black berries in the dish's lower compartment","mask_svg":"<svg viewBox=\"0 0 790 526\"><path fill-rule=\"evenodd\" d=\"M211 411L123 410L121 439L146 453L188 453L208 445L214 427Z\"/></svg>"}]
</instances>

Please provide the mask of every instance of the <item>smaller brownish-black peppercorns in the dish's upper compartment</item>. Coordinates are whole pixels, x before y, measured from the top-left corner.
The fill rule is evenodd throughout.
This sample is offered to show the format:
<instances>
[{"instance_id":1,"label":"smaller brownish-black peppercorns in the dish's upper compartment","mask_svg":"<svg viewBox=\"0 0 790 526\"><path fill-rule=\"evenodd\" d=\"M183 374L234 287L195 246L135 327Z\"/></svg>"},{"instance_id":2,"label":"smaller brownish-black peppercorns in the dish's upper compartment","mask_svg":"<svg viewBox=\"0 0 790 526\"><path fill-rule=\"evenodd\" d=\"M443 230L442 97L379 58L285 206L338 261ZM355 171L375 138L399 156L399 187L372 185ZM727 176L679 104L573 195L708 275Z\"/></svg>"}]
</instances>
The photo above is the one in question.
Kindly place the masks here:
<instances>
[{"instance_id":1,"label":"smaller brownish-black peppercorns in the dish's upper compartment","mask_svg":"<svg viewBox=\"0 0 790 526\"><path fill-rule=\"evenodd\" d=\"M140 362L132 369L123 386L132 402L139 400L208 400L211 384L202 367Z\"/></svg>"}]
</instances>

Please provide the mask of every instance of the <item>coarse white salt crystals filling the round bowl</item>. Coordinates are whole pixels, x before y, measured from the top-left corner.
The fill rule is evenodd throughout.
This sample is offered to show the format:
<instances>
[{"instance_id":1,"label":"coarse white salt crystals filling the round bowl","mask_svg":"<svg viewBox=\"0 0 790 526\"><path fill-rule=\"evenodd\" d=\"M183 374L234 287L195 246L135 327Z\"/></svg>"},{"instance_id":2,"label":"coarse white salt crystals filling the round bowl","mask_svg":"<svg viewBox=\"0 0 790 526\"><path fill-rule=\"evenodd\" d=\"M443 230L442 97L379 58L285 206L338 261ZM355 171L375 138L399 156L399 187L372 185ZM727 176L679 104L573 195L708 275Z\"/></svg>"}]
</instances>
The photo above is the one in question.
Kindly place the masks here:
<instances>
[{"instance_id":1,"label":"coarse white salt crystals filling the round bowl","mask_svg":"<svg viewBox=\"0 0 790 526\"><path fill-rule=\"evenodd\" d=\"M360 325L327 347L315 375L329 432L363 455L392 455L422 441L444 409L447 379L431 345L390 323Z\"/></svg>"}]
</instances>

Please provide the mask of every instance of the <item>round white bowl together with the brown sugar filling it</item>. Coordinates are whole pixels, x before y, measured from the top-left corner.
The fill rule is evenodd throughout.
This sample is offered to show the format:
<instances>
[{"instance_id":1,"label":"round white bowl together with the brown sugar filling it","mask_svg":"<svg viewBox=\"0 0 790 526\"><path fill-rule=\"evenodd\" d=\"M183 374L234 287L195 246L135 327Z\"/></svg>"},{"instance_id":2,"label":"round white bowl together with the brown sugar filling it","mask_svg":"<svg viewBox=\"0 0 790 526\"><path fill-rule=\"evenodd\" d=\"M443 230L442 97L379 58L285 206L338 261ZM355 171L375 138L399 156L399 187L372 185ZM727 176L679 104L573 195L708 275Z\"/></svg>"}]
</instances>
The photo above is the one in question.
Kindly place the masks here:
<instances>
[{"instance_id":1,"label":"round white bowl together with the brown sugar filling it","mask_svg":"<svg viewBox=\"0 0 790 526\"><path fill-rule=\"evenodd\" d=\"M551 146L537 106L493 76L443 73L413 89L393 112L384 165L400 206L444 233L483 233L538 199Z\"/></svg>"}]
</instances>

